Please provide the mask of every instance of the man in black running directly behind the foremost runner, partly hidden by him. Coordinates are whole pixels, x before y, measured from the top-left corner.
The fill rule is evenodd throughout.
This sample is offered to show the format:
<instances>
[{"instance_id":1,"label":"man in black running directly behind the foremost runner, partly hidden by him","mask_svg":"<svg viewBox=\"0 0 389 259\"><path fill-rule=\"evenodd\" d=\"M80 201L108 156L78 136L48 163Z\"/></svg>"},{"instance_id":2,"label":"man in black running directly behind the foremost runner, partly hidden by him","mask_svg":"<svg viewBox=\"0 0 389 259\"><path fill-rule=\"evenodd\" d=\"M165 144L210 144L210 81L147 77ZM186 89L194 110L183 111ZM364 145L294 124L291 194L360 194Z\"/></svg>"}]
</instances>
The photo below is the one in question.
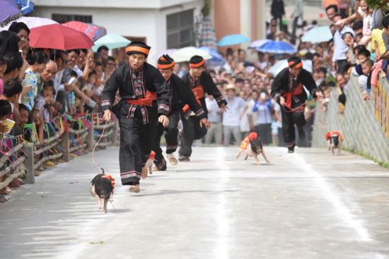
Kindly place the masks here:
<instances>
[{"instance_id":1,"label":"man in black running directly behind the foremost runner, partly hidden by him","mask_svg":"<svg viewBox=\"0 0 389 259\"><path fill-rule=\"evenodd\" d=\"M183 107L189 107L196 117L199 119L200 127L209 128L210 124L207 119L202 106L197 102L193 92L187 88L181 78L173 73L175 67L174 60L168 56L163 55L158 59L157 68L161 72L166 83L168 83L170 89L170 111L168 113L169 125L163 129L163 126L157 126L156 136L153 142L153 151L156 152L154 158L154 164L158 170L166 170L166 161L162 155L162 149L160 146L161 136L163 131L166 131L166 154L168 155L168 161L170 164L175 165L178 163L174 157L174 152L178 147L178 121L180 121L180 110Z\"/></svg>"}]
</instances>

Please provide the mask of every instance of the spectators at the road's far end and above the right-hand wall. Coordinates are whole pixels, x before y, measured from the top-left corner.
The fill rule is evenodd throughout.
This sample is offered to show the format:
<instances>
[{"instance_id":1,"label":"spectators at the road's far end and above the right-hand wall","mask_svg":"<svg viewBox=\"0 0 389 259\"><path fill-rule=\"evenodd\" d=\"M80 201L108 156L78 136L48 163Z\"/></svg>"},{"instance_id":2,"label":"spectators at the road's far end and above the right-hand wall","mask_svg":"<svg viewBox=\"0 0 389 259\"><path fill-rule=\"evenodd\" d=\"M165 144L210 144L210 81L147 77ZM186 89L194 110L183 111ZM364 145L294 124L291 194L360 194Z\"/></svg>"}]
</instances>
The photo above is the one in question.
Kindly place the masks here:
<instances>
[{"instance_id":1,"label":"spectators at the road's far end and above the right-hand wall","mask_svg":"<svg viewBox=\"0 0 389 259\"><path fill-rule=\"evenodd\" d=\"M313 21L305 21L297 26L301 19L301 1L296 1L293 13L294 24L289 32L288 26L280 23L284 15L282 1L273 1L272 20L267 24L267 39L289 42L296 47L296 54L312 64L315 83L323 91L325 98L318 104L310 97L305 110L307 125L306 138L297 140L300 146L310 146L311 131L315 109L327 110L332 89L337 90L339 113L344 112L347 91L356 77L361 89L361 102L370 100L371 86L376 86L379 78L389 78L389 16L380 9L369 8L366 1L355 1L352 12L343 5L330 4L325 13L330 21L332 39L319 44L302 42L301 36L315 28ZM282 10L275 10L281 8ZM253 50L249 50L254 52ZM257 52L257 61L246 60L244 49L227 49L226 64L212 68L214 82L226 95L231 109L221 114L212 97L207 97L210 107L209 121L213 129L205 137L205 143L229 145L231 135L239 142L249 131L256 131L265 145L271 143L283 145L280 131L281 114L279 104L271 100L274 74L269 73L281 59L290 55ZM239 134L240 133L240 134Z\"/></svg>"}]
</instances>

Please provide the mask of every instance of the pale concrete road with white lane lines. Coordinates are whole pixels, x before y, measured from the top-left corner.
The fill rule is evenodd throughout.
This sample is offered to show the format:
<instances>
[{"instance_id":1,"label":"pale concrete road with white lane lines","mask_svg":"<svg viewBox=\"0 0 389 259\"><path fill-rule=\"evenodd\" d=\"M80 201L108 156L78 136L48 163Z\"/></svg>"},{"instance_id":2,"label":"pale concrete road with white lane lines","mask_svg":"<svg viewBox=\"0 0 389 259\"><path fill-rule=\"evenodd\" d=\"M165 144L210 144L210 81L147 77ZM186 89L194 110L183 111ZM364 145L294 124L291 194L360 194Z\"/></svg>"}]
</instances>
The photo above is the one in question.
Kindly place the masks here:
<instances>
[{"instance_id":1,"label":"pale concrete road with white lane lines","mask_svg":"<svg viewBox=\"0 0 389 259\"><path fill-rule=\"evenodd\" d=\"M389 170L345 153L196 147L141 193L120 185L118 148L97 152L117 179L98 211L91 155L46 171L0 205L1 258L389 258ZM263 161L263 159L262 159Z\"/></svg>"}]
</instances>

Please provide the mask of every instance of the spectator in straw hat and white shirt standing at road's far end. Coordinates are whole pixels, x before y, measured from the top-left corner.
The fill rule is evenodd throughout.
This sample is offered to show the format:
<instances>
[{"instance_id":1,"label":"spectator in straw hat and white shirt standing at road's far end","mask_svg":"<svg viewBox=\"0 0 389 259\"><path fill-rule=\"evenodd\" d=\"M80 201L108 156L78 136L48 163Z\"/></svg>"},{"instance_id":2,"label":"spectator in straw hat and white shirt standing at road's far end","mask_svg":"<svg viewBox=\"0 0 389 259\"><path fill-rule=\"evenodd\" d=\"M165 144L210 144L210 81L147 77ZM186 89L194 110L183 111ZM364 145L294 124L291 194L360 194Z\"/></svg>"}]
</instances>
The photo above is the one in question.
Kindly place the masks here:
<instances>
[{"instance_id":1,"label":"spectator in straw hat and white shirt standing at road's far end","mask_svg":"<svg viewBox=\"0 0 389 259\"><path fill-rule=\"evenodd\" d=\"M233 138L235 138L238 144L242 141L242 135L240 135L240 110L245 107L246 102L242 98L236 97L235 85L227 85L226 92L226 101L229 109L223 114L223 133L224 145L228 146L231 134L233 134Z\"/></svg>"}]
</instances>

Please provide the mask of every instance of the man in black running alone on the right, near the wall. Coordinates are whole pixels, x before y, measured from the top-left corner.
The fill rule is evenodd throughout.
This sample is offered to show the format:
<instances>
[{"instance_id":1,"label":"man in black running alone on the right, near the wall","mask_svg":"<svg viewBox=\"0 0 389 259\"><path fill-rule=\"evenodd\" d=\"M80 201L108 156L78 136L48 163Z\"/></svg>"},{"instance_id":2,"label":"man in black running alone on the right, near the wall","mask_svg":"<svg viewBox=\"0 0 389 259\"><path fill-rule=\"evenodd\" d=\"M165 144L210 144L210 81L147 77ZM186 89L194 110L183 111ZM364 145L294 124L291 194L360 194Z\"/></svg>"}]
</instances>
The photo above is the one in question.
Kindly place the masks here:
<instances>
[{"instance_id":1,"label":"man in black running alone on the right, near the wall","mask_svg":"<svg viewBox=\"0 0 389 259\"><path fill-rule=\"evenodd\" d=\"M303 68L303 61L297 56L288 59L289 68L279 72L273 81L272 97L281 105L282 133L288 152L294 152L295 133L294 124L298 129L298 136L305 138L303 126L306 124L304 110L308 98L305 86L310 95L315 98L323 98L323 93L318 90L312 75Z\"/></svg>"}]
</instances>

